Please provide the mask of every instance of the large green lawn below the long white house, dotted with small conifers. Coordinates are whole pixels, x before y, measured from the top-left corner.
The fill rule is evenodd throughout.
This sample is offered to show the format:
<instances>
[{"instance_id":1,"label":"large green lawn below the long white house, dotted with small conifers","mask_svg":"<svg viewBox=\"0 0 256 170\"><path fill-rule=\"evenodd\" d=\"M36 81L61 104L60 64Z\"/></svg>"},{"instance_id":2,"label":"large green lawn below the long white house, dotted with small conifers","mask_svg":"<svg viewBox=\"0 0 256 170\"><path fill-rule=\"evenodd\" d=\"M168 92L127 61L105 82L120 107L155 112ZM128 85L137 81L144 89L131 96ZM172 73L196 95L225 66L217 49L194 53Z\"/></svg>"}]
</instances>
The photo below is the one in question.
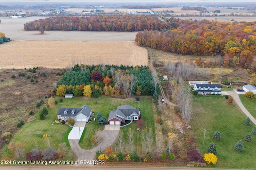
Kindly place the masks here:
<instances>
[{"instance_id":1,"label":"large green lawn below the long white house, dotted with small conifers","mask_svg":"<svg viewBox=\"0 0 256 170\"><path fill-rule=\"evenodd\" d=\"M242 113L236 103L228 104L223 96L194 96L193 97L192 128L196 134L202 154L211 142L217 148L218 162L208 165L211 168L244 168L256 169L256 135L252 135L252 142L244 141L244 135L252 130L244 125L246 115ZM203 144L205 133L205 144ZM214 131L220 131L222 140L214 141ZM234 145L242 140L244 152L236 152Z\"/></svg>"}]
</instances>

